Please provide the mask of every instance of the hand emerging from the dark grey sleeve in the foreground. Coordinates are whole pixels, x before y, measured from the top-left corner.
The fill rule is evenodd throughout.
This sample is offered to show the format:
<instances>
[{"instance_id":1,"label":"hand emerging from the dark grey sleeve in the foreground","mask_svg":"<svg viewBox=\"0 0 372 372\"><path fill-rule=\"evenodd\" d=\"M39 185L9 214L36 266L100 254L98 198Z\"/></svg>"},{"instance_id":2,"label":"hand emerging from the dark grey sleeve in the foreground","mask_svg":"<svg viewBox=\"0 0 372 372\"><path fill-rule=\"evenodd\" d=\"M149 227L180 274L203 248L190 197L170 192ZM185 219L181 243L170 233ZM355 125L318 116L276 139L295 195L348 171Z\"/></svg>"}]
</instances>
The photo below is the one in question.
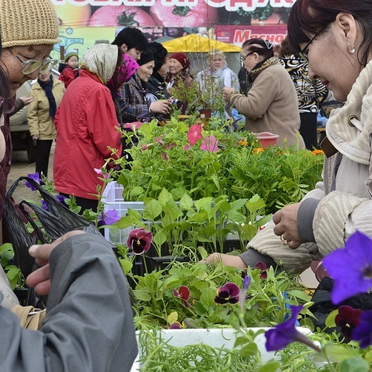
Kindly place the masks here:
<instances>
[{"instance_id":1,"label":"hand emerging from the dark grey sleeve in the foreground","mask_svg":"<svg viewBox=\"0 0 372 372\"><path fill-rule=\"evenodd\" d=\"M30 287L35 287L36 293L39 295L47 295L50 291L51 281L50 281L50 268L49 268L49 256L52 250L58 246L62 241L67 238L78 235L85 234L81 230L69 231L66 234L62 235L60 238L56 239L53 243L50 244L41 244L33 245L29 248L28 252L30 256L35 259L37 265L42 266L39 269L32 272L26 278L26 284Z\"/></svg>"}]
</instances>

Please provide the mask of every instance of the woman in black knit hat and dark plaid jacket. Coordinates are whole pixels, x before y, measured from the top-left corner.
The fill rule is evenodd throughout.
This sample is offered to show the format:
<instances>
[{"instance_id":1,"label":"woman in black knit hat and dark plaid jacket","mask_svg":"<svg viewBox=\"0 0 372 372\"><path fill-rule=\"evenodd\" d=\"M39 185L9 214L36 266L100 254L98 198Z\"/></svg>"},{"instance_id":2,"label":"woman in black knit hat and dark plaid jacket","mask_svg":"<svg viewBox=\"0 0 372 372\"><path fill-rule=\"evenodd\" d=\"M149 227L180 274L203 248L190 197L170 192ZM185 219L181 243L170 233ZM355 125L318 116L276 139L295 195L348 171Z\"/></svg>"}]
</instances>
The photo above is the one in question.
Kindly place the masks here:
<instances>
[{"instance_id":1,"label":"woman in black knit hat and dark plaid jacket","mask_svg":"<svg viewBox=\"0 0 372 372\"><path fill-rule=\"evenodd\" d=\"M122 123L138 121L150 113L166 114L169 111L169 100L157 100L147 105L145 89L155 67L153 52L150 49L143 50L138 64L137 73L119 89L119 95L123 97L119 102Z\"/></svg>"}]
</instances>

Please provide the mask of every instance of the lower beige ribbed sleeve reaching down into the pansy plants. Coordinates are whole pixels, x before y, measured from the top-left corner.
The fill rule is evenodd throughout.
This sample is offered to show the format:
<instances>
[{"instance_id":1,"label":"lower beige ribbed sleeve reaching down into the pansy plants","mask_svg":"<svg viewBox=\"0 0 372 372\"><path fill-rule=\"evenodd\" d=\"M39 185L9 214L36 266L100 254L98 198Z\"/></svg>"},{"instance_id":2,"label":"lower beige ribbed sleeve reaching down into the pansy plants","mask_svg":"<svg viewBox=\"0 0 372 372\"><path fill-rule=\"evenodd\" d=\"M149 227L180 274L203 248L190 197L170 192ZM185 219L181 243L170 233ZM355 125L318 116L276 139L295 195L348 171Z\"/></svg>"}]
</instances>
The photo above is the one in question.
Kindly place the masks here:
<instances>
[{"instance_id":1,"label":"lower beige ribbed sleeve reaching down into the pansy plants","mask_svg":"<svg viewBox=\"0 0 372 372\"><path fill-rule=\"evenodd\" d=\"M318 258L316 244L304 243L292 250L288 246L283 246L280 237L274 234L274 226L274 222L270 221L247 244L247 248L253 248L259 253L272 257L286 272L301 273L310 267L312 259Z\"/></svg>"}]
</instances>

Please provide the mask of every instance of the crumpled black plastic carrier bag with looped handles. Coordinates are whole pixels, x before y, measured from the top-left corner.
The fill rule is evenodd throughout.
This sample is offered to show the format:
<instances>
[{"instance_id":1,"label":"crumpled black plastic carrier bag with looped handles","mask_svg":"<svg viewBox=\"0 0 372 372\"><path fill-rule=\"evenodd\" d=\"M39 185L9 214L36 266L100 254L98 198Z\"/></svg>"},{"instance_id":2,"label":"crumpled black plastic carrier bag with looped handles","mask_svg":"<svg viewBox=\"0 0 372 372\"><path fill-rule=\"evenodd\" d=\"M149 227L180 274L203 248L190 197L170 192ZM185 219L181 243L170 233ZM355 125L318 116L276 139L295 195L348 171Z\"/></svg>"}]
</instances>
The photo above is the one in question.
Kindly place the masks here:
<instances>
[{"instance_id":1,"label":"crumpled black plastic carrier bag with looped handles","mask_svg":"<svg viewBox=\"0 0 372 372\"><path fill-rule=\"evenodd\" d=\"M39 191L48 210L25 200L20 202L18 208L16 208L16 205L12 201L12 195L21 180L28 181ZM31 210L36 214L38 222L31 217ZM6 193L4 218L9 230L18 267L25 278L34 269L34 259L29 255L28 248L32 244L36 244L38 240L43 244L51 243L71 230L84 229L85 231L100 234L93 224L82 216L70 211L70 209L58 202L53 195L48 193L47 190L28 177L19 177ZM27 222L34 229L32 233L27 229Z\"/></svg>"}]
</instances>

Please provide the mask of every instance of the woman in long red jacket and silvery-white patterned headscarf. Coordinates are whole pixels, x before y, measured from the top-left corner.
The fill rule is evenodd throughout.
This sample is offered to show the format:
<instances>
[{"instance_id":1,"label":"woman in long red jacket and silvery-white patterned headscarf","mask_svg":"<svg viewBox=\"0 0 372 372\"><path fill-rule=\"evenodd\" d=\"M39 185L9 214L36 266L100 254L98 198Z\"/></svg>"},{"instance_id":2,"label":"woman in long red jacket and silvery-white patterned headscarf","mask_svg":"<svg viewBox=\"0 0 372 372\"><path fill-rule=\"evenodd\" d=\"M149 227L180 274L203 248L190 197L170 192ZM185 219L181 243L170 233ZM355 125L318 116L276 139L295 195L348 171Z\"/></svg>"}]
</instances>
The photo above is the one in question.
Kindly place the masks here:
<instances>
[{"instance_id":1,"label":"woman in long red jacket and silvery-white patterned headscarf","mask_svg":"<svg viewBox=\"0 0 372 372\"><path fill-rule=\"evenodd\" d=\"M97 210L94 195L102 182L94 168L100 169L111 157L110 148L116 148L118 155L122 152L115 105L105 86L114 73L121 74L122 60L117 45L96 44L89 48L81 57L79 77L66 90L54 118L54 186L61 194L74 195L81 212Z\"/></svg>"}]
</instances>

